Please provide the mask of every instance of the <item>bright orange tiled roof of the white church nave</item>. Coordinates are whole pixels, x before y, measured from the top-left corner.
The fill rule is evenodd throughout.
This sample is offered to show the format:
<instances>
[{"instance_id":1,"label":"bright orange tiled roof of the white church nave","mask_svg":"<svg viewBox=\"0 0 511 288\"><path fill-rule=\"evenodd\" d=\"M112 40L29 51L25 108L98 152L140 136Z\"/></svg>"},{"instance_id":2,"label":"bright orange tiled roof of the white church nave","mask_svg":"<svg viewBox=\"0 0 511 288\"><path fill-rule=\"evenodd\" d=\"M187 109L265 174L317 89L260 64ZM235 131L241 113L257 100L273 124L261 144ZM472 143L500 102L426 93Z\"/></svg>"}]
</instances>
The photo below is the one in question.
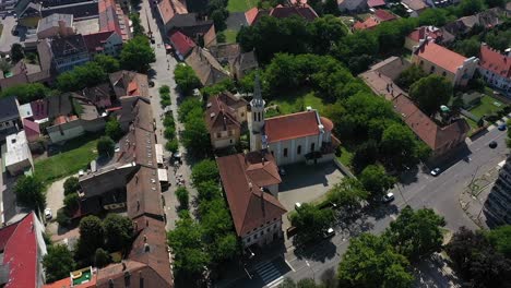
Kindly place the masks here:
<instances>
[{"instance_id":1,"label":"bright orange tiled roof of the white church nave","mask_svg":"<svg viewBox=\"0 0 511 288\"><path fill-rule=\"evenodd\" d=\"M314 110L269 118L265 120L264 131L268 143L320 133Z\"/></svg>"}]
</instances>

